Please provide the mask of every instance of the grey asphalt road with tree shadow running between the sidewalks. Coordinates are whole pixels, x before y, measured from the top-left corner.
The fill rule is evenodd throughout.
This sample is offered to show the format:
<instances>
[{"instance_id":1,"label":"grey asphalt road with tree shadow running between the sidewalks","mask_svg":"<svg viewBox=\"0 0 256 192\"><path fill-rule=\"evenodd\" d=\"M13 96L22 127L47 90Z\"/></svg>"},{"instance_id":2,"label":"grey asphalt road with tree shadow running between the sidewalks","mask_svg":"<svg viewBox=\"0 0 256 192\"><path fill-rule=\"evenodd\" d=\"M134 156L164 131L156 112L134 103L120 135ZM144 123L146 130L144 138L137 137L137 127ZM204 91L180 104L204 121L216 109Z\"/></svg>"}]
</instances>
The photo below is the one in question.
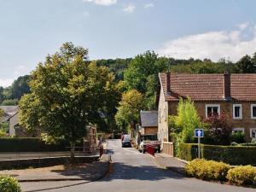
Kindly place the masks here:
<instances>
[{"instance_id":1,"label":"grey asphalt road with tree shadow running between the sidewalks","mask_svg":"<svg viewBox=\"0 0 256 192\"><path fill-rule=\"evenodd\" d=\"M133 148L121 148L119 140L108 141L108 153L112 154L111 172L102 180L52 189L49 192L255 192L256 189L230 186L220 183L187 178L163 170L154 164L148 154L140 154Z\"/></svg>"}]
</instances>

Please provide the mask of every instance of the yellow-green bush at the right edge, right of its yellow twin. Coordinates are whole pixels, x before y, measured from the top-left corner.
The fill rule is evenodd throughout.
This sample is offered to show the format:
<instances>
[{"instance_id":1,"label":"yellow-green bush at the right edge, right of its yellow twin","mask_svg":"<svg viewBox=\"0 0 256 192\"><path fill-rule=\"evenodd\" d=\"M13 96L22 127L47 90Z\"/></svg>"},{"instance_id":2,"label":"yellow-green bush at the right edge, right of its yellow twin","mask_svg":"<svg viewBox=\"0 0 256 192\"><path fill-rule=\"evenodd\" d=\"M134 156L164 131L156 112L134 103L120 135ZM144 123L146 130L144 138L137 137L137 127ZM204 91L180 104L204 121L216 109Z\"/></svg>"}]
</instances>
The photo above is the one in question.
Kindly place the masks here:
<instances>
[{"instance_id":1,"label":"yellow-green bush at the right edge, right of its yellow twin","mask_svg":"<svg viewBox=\"0 0 256 192\"><path fill-rule=\"evenodd\" d=\"M237 184L256 184L256 168L253 166L236 166L233 169L230 169L227 175L230 183Z\"/></svg>"}]
</instances>

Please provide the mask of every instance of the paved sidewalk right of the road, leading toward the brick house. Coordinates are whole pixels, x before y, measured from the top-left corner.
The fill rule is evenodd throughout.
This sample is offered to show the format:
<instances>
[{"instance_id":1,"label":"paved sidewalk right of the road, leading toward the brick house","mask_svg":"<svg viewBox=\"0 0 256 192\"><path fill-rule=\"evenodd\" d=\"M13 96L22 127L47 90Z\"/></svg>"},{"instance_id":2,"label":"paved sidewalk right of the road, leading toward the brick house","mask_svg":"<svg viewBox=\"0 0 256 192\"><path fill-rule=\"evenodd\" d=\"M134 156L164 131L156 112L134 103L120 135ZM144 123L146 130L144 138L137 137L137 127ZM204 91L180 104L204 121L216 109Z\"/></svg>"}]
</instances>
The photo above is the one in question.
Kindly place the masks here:
<instances>
[{"instance_id":1,"label":"paved sidewalk right of the road, leading toward the brick house","mask_svg":"<svg viewBox=\"0 0 256 192\"><path fill-rule=\"evenodd\" d=\"M154 154L154 162L164 168L185 175L187 161L179 160L168 154Z\"/></svg>"}]
</instances>

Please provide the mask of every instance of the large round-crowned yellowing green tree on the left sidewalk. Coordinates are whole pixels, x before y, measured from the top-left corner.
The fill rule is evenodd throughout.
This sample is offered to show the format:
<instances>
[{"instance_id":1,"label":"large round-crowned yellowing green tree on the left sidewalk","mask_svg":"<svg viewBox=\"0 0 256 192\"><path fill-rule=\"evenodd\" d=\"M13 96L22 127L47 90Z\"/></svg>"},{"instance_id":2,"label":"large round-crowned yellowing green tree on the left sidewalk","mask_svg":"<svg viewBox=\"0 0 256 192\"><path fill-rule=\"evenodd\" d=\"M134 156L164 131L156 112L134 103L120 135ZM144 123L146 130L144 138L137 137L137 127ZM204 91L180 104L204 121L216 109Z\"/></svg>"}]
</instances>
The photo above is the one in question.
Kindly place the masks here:
<instances>
[{"instance_id":1,"label":"large round-crowned yellowing green tree on the left sidewalk","mask_svg":"<svg viewBox=\"0 0 256 192\"><path fill-rule=\"evenodd\" d=\"M20 122L27 130L40 129L71 144L86 135L85 127L98 124L113 104L116 84L108 67L88 61L88 49L72 43L48 55L32 72L31 93L20 100Z\"/></svg>"}]
</instances>

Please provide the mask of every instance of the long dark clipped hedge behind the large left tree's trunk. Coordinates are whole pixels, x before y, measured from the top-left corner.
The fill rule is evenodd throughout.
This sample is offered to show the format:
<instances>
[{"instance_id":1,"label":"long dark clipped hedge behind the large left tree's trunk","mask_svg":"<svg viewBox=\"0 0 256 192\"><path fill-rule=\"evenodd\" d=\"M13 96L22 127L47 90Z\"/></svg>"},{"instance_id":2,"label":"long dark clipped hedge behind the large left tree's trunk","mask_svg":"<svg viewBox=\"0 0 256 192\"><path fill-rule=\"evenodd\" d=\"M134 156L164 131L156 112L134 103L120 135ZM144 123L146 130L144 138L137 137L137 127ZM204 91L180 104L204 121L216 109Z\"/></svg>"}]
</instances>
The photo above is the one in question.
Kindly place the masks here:
<instances>
[{"instance_id":1,"label":"long dark clipped hedge behind the large left tree's trunk","mask_svg":"<svg viewBox=\"0 0 256 192\"><path fill-rule=\"evenodd\" d=\"M59 139L55 144L46 144L40 138L0 138L0 152L52 152L69 151L70 145L64 139ZM79 146L82 146L79 143Z\"/></svg>"}]
</instances>

